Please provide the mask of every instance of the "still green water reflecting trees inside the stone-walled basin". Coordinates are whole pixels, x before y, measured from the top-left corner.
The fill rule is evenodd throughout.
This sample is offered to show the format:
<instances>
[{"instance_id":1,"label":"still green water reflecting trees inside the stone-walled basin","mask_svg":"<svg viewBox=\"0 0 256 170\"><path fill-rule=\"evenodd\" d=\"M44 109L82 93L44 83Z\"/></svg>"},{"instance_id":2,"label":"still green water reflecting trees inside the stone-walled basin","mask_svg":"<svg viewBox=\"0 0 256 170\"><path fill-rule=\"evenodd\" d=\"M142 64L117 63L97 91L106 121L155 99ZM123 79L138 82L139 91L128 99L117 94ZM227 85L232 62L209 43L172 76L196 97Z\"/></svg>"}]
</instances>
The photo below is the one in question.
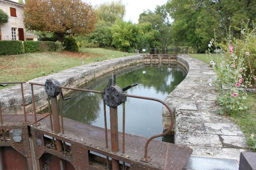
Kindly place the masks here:
<instances>
[{"instance_id":1,"label":"still green water reflecting trees inside the stone-walled basin","mask_svg":"<svg viewBox=\"0 0 256 170\"><path fill-rule=\"evenodd\" d=\"M127 94L154 97L164 100L165 97L186 76L186 72L179 65L144 65L142 63L134 68L123 68L115 71L116 84L121 88L138 83L138 86L127 90ZM130 70L129 70L130 69ZM100 81L91 82L85 89L102 91L110 78L105 74ZM103 100L100 94L75 92L69 101L64 104L64 116L66 118L86 124L104 128ZM109 123L109 107L107 111L107 128ZM127 98L125 103L125 132L150 137L163 132L162 104L136 98ZM122 105L118 106L118 129L122 131ZM157 140L163 140L161 137Z\"/></svg>"}]
</instances>

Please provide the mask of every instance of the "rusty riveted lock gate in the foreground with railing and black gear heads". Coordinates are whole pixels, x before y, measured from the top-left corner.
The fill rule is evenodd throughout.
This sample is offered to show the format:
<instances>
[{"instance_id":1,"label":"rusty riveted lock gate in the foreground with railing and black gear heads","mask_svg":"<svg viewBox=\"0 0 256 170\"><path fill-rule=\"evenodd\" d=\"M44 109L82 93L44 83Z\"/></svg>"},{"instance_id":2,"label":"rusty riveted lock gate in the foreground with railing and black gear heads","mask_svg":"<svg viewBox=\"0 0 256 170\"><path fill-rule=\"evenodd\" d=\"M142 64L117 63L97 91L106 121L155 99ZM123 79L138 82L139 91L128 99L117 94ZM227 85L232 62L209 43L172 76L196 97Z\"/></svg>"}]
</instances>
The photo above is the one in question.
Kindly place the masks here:
<instances>
[{"instance_id":1,"label":"rusty riveted lock gate in the foreground with railing and black gear heads","mask_svg":"<svg viewBox=\"0 0 256 170\"><path fill-rule=\"evenodd\" d=\"M116 85L115 74L112 74L103 91L63 87L56 79L47 79L45 84L29 82L34 114L28 115L26 115L23 92L23 84L26 82L0 82L1 86L8 83L21 84L24 116L2 115L0 108L0 169L177 170L183 168L192 154L190 147L152 140L171 131L174 126L172 110L162 100L124 93L138 84L122 89ZM45 87L49 113L36 113L34 85ZM63 97L62 89L101 94L104 101L105 128L63 118L63 100L70 98ZM59 104L57 96L59 96ZM172 118L170 128L149 139L125 133L127 97L162 103L167 107ZM123 105L123 129L122 132L118 132L117 106L121 104ZM107 129L106 105L110 109L110 130Z\"/></svg>"}]
</instances>

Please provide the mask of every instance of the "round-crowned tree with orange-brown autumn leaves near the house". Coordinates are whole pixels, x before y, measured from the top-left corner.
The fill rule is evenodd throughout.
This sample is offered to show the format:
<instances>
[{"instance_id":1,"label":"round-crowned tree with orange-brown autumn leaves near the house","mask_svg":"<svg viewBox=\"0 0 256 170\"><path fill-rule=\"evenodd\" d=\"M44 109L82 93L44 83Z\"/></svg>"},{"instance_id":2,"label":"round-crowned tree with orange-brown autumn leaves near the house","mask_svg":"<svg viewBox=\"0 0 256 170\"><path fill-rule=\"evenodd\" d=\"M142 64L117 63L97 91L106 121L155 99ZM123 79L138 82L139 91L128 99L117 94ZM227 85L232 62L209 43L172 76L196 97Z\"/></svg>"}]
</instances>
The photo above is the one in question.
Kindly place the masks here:
<instances>
[{"instance_id":1,"label":"round-crowned tree with orange-brown autumn leaves near the house","mask_svg":"<svg viewBox=\"0 0 256 170\"><path fill-rule=\"evenodd\" d=\"M25 26L50 31L63 42L64 35L86 35L94 30L96 14L81 0L26 0Z\"/></svg>"}]
</instances>

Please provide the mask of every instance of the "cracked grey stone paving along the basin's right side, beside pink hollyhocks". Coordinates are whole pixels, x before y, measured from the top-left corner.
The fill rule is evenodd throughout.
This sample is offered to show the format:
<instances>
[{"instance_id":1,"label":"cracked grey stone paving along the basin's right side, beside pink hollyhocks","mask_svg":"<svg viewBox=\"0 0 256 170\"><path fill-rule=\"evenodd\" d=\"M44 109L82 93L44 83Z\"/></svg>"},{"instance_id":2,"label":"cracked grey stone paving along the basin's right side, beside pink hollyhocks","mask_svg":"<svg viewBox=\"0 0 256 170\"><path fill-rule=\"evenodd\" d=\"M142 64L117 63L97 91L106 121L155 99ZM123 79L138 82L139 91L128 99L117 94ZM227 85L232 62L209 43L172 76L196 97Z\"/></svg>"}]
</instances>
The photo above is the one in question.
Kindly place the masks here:
<instances>
[{"instance_id":1,"label":"cracked grey stone paving along the basin's right side, beside pink hollyhocks","mask_svg":"<svg viewBox=\"0 0 256 170\"><path fill-rule=\"evenodd\" d=\"M221 157L239 161L245 151L243 132L227 117L219 117L214 70L201 60L189 55L177 56L177 62L186 66L186 78L165 98L175 116L175 143L193 148L192 155ZM163 107L163 125L170 126L170 117Z\"/></svg>"}]
</instances>

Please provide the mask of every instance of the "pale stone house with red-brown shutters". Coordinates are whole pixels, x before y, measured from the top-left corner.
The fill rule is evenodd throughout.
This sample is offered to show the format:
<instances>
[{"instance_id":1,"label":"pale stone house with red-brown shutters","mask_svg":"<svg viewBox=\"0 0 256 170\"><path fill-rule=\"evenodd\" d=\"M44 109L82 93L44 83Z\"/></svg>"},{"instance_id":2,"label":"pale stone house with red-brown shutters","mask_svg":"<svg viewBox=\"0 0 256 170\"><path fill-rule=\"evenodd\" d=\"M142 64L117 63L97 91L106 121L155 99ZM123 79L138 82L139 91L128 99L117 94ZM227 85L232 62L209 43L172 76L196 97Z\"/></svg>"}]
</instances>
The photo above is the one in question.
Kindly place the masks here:
<instances>
[{"instance_id":1,"label":"pale stone house with red-brown shutters","mask_svg":"<svg viewBox=\"0 0 256 170\"><path fill-rule=\"evenodd\" d=\"M11 0L0 0L0 9L9 16L8 23L0 23L0 40L26 41L24 5Z\"/></svg>"}]
</instances>

